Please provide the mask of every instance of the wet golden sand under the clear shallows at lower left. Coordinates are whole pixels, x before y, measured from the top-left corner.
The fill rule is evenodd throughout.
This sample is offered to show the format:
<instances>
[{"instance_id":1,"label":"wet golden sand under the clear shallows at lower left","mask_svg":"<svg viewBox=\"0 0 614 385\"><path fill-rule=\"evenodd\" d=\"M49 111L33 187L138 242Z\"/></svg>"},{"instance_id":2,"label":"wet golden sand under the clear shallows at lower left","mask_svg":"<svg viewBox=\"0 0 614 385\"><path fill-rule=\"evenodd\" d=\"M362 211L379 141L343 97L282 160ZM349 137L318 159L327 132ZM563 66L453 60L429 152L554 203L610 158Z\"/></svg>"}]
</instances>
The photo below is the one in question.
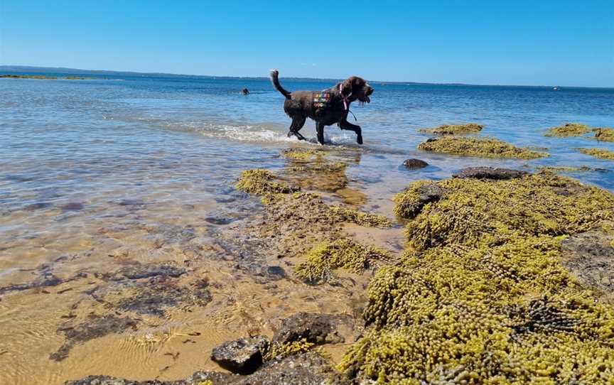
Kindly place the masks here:
<instances>
[{"instance_id":1,"label":"wet golden sand under the clear shallows at lower left","mask_svg":"<svg viewBox=\"0 0 614 385\"><path fill-rule=\"evenodd\" d=\"M328 204L370 202L345 174L347 165L360 162L356 151L285 162L283 178ZM3 282L14 284L0 287L0 364L6 368L0 382L62 384L90 374L170 380L200 369L223 372L210 360L213 347L247 335L270 337L299 311L355 320L345 343L325 346L340 359L362 329L372 271L340 272L335 285L302 283L293 267L321 230L276 234L278 224L257 198L229 190L229 203L241 207L219 215L210 215L207 202L173 207L136 199L117 202L104 219L68 232L41 228L33 239L10 244L11 255L28 263L6 269L11 255L2 251ZM58 210L69 216L91 209L75 202ZM392 204L377 211L393 219ZM152 214L166 216L166 224L148 224ZM338 229L393 253L403 247L399 224Z\"/></svg>"}]
</instances>

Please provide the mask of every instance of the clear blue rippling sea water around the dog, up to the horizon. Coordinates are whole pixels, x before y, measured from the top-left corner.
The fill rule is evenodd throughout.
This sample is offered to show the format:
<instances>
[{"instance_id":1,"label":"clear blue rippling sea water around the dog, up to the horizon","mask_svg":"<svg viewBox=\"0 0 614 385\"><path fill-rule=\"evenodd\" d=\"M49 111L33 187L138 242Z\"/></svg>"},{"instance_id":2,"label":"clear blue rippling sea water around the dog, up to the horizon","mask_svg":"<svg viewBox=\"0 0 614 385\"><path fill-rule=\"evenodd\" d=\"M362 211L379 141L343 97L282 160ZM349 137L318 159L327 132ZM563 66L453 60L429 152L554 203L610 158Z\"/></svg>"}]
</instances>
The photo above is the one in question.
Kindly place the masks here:
<instances>
[{"instance_id":1,"label":"clear blue rippling sea water around the dog, up to the horizon","mask_svg":"<svg viewBox=\"0 0 614 385\"><path fill-rule=\"evenodd\" d=\"M323 90L333 85L283 78L281 83L288 90ZM612 89L377 82L372 86L371 104L352 105L363 129L364 146L355 143L352 132L336 126L325 130L328 146L356 151L357 161L347 170L348 187L366 197L365 210L392 216L390 198L411 180L448 178L466 166L602 168L569 175L614 190L614 162L574 149L614 151L614 143L543 136L547 128L566 122L614 126ZM251 94L240 94L244 87ZM203 224L212 215L249 215L255 210L254 200L237 195L232 188L242 170L280 169L281 149L318 147L311 121L301 131L311 139L309 143L286 137L289 119L283 100L268 80L0 79L0 287L27 283L31 281L28 271L48 265L53 269L54 261L61 258L74 256L77 267L54 271L58 276L90 269L112 251L139 243L139 237L156 237L151 229L167 234L169 226ZM483 136L518 146L546 147L551 156L492 160L416 150L429 137L418 129L465 122L485 124ZM406 158L421 158L431 166L414 171L399 168ZM101 229L110 227L131 234L125 236L125 244L104 237ZM141 235L142 229L147 229L146 234ZM100 256L77 258L87 253ZM4 332L23 331L31 336L20 325L42 317L37 301L23 305L17 313L9 311L6 301L6 308L0 303L6 311L0 315ZM53 327L42 325L37 338L53 334ZM2 338L8 345L21 341ZM45 354L40 355L46 360ZM9 361L14 369L7 379L30 369L19 367L19 362ZM73 369L91 373L84 362L73 364ZM46 368L43 363L41 367ZM62 374L59 367L45 370L52 373L45 377L51 382L76 373L65 369Z\"/></svg>"}]
</instances>

